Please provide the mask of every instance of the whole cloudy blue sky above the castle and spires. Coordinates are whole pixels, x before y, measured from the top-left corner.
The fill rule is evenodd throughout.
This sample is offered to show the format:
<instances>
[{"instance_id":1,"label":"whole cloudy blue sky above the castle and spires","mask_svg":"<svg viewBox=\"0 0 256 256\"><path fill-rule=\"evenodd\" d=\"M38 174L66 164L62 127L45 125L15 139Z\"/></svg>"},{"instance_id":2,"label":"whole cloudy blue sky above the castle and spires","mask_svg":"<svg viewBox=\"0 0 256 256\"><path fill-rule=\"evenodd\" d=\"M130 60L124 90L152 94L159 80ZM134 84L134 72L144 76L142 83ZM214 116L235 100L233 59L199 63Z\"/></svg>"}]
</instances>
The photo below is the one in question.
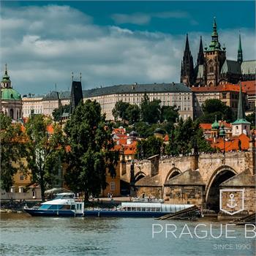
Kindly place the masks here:
<instances>
[{"instance_id":1,"label":"whole cloudy blue sky above the castle and spires","mask_svg":"<svg viewBox=\"0 0 256 256\"><path fill-rule=\"evenodd\" d=\"M235 59L256 59L255 1L1 1L1 75L20 94L122 83L179 82L186 34L194 62L200 35ZM56 86L56 87L55 87Z\"/></svg>"}]
</instances>

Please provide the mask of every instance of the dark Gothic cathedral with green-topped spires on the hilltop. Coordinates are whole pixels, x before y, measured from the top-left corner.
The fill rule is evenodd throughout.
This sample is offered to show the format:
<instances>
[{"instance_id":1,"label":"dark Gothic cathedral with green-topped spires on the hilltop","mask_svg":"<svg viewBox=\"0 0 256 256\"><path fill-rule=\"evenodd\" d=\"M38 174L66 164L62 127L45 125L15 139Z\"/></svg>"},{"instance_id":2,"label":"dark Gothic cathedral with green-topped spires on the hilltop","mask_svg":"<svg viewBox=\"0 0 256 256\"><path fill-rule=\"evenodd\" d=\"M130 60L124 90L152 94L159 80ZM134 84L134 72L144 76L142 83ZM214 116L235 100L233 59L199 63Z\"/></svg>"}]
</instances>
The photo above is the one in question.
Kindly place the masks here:
<instances>
[{"instance_id":1,"label":"dark Gothic cathedral with green-topped spires on the hilltop","mask_svg":"<svg viewBox=\"0 0 256 256\"><path fill-rule=\"evenodd\" d=\"M238 54L236 60L226 58L225 45L219 42L217 22L214 18L211 43L203 50L202 37L197 53L197 62L193 64L192 53L189 50L188 35L184 56L181 62L181 83L187 86L218 86L225 83L238 83L239 80L255 80L256 60L244 61L241 45L241 35L238 39Z\"/></svg>"}]
</instances>

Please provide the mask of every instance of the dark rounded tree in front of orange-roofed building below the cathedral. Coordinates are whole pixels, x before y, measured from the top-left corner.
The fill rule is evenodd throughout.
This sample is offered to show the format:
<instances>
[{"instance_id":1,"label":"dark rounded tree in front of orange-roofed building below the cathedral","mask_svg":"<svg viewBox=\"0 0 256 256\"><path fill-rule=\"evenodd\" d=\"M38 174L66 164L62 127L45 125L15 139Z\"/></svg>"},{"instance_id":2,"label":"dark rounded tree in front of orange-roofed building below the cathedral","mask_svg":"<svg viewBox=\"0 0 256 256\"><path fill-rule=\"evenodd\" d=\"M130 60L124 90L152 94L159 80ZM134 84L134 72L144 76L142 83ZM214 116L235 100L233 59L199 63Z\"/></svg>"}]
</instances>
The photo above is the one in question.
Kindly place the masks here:
<instances>
[{"instance_id":1,"label":"dark rounded tree in front of orange-roofed building below the cathedral","mask_svg":"<svg viewBox=\"0 0 256 256\"><path fill-rule=\"evenodd\" d=\"M202 105L202 110L203 116L198 118L200 123L213 123L215 116L217 116L217 120L223 118L227 122L234 121L232 109L219 99L206 99Z\"/></svg>"}]
</instances>

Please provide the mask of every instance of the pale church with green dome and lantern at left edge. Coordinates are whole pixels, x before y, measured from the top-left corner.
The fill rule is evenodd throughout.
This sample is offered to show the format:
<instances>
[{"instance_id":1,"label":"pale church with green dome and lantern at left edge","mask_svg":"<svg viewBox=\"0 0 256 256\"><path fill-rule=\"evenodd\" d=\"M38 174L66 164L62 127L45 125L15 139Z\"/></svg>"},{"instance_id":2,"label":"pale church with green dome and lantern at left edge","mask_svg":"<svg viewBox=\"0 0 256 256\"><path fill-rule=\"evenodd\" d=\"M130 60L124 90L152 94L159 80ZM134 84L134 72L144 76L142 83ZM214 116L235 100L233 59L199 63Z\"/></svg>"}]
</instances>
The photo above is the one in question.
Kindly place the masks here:
<instances>
[{"instance_id":1,"label":"pale church with green dome and lantern at left edge","mask_svg":"<svg viewBox=\"0 0 256 256\"><path fill-rule=\"evenodd\" d=\"M12 89L12 82L7 72L7 64L5 64L5 72L1 79L0 110L6 116L10 116L12 120L18 121L22 118L21 96L18 91Z\"/></svg>"}]
</instances>

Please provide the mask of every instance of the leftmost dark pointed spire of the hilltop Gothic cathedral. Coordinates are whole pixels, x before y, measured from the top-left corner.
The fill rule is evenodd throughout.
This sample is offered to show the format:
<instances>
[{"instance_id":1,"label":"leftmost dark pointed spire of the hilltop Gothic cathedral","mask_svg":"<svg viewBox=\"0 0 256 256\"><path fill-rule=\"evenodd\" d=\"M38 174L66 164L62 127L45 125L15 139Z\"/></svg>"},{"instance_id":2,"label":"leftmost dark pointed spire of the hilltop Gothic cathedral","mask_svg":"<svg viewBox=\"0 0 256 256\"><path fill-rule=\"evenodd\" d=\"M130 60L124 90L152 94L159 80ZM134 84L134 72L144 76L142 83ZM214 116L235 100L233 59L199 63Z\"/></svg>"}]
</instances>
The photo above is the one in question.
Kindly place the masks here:
<instances>
[{"instance_id":1,"label":"leftmost dark pointed spire of the hilltop Gothic cathedral","mask_svg":"<svg viewBox=\"0 0 256 256\"><path fill-rule=\"evenodd\" d=\"M189 50L189 36L187 34L186 46L184 50L183 59L181 62L181 83L187 84L187 86L192 86L194 83L194 66L193 57Z\"/></svg>"}]
</instances>

